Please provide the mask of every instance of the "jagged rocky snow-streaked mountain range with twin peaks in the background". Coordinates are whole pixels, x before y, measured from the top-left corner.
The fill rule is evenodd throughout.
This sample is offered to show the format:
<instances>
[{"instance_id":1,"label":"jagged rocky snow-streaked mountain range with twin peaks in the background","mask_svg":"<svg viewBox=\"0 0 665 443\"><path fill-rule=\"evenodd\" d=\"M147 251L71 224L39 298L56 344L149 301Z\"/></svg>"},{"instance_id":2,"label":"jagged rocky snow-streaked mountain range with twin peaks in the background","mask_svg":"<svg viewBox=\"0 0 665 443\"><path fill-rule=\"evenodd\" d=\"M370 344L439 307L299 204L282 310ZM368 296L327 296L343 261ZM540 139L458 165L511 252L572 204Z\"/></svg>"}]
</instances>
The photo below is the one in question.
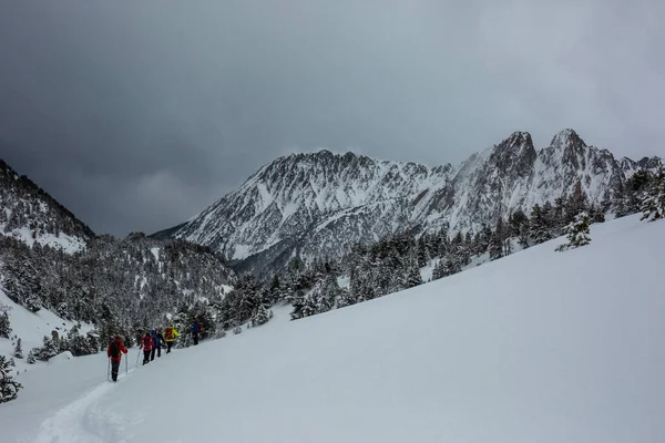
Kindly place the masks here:
<instances>
[{"instance_id":1,"label":"jagged rocky snow-streaked mountain range with twin peaks in the background","mask_svg":"<svg viewBox=\"0 0 665 443\"><path fill-rule=\"evenodd\" d=\"M355 243L416 228L479 230L514 209L573 194L610 204L626 178L653 162L616 161L572 130L536 151L516 132L459 166L423 166L328 151L294 154L264 166L238 189L183 225L156 236L209 246L241 270L340 257ZM652 165L653 166L653 165Z\"/></svg>"}]
</instances>

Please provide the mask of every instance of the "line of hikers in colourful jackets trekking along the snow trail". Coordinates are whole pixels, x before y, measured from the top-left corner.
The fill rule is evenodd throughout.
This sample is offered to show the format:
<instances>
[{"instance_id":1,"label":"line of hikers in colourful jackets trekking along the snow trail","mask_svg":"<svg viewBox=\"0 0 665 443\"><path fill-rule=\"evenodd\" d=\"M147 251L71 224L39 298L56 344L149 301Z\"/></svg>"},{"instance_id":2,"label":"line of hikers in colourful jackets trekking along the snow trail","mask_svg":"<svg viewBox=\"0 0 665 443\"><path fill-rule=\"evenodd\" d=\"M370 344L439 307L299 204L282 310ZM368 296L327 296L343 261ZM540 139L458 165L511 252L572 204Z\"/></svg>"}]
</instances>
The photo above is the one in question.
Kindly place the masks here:
<instances>
[{"instance_id":1,"label":"line of hikers in colourful jackets trekking along the snow trail","mask_svg":"<svg viewBox=\"0 0 665 443\"><path fill-rule=\"evenodd\" d=\"M194 344L198 344L198 334L201 333L198 321L194 321L191 331ZM164 329L164 333L157 328L146 331L139 340L139 349L143 350L143 364L153 361L155 359L155 353L157 354L157 358L162 357L162 346L164 343L166 344L166 353L170 353L173 341L178 337L180 332L175 330L173 324L170 324ZM111 379L113 381L117 381L117 370L120 369L123 353L126 354L127 349L124 347L121 338L115 337L106 349L106 357L111 359Z\"/></svg>"}]
</instances>

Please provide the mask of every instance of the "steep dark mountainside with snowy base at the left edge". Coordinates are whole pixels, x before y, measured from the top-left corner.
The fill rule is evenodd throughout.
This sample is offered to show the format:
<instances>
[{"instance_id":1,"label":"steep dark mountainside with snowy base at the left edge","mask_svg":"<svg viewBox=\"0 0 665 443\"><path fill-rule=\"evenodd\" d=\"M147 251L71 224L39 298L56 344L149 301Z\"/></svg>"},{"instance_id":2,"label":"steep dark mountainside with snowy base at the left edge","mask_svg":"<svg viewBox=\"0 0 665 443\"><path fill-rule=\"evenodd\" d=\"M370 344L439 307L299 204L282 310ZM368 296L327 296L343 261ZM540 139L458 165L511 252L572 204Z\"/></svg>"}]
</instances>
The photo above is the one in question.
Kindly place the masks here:
<instances>
[{"instance_id":1,"label":"steep dark mountainside with snowy base at the left edge","mask_svg":"<svg viewBox=\"0 0 665 443\"><path fill-rule=\"evenodd\" d=\"M0 235L76 253L94 233L25 176L0 159Z\"/></svg>"}]
</instances>

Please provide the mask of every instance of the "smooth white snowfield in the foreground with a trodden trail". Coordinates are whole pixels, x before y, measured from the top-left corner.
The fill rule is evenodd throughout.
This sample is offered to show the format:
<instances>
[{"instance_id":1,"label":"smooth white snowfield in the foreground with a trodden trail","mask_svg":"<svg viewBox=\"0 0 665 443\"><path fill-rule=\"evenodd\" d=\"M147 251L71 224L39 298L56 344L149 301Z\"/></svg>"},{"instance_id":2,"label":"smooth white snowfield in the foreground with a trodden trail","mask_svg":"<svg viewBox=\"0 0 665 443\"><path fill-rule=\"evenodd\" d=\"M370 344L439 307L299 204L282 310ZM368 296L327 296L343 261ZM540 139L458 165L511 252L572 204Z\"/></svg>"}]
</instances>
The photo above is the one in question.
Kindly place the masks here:
<instances>
[{"instance_id":1,"label":"smooth white snowfield in the foreground with a trodden trail","mask_svg":"<svg viewBox=\"0 0 665 443\"><path fill-rule=\"evenodd\" d=\"M549 241L352 307L21 374L2 442L663 442L665 222ZM123 363L124 371L124 363Z\"/></svg>"}]
</instances>

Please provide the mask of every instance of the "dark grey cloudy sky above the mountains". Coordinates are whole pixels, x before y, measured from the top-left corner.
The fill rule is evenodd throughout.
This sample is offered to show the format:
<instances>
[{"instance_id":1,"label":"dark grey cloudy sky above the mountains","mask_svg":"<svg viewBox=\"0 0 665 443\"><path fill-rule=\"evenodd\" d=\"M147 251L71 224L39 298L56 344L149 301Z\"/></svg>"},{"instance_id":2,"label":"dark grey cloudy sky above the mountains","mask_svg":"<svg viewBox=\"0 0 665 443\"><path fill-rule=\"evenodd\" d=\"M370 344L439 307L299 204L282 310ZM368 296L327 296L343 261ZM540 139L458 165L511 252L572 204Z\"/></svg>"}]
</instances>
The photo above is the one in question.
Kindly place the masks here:
<instances>
[{"instance_id":1,"label":"dark grey cloudy sky above the mountains","mask_svg":"<svg viewBox=\"0 0 665 443\"><path fill-rule=\"evenodd\" d=\"M662 0L0 0L0 157L98 233L327 147L460 162L573 127L663 154Z\"/></svg>"}]
</instances>

